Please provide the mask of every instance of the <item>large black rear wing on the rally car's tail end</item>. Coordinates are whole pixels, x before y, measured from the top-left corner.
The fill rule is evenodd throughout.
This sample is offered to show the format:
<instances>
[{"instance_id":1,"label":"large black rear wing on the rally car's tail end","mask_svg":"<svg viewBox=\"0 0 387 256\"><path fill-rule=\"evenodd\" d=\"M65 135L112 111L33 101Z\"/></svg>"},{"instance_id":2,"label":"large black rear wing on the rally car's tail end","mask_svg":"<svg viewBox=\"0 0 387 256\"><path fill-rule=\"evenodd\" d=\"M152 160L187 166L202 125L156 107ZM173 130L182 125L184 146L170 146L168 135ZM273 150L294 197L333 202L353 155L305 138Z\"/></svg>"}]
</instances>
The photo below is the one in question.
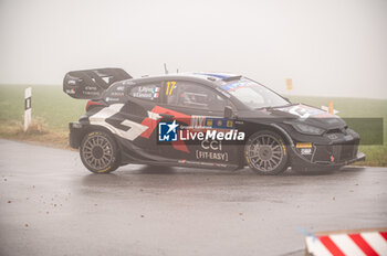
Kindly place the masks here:
<instances>
[{"instance_id":1,"label":"large black rear wing on the rally car's tail end","mask_svg":"<svg viewBox=\"0 0 387 256\"><path fill-rule=\"evenodd\" d=\"M133 78L122 68L71 71L63 79L63 92L73 98L97 99L118 81Z\"/></svg>"}]
</instances>

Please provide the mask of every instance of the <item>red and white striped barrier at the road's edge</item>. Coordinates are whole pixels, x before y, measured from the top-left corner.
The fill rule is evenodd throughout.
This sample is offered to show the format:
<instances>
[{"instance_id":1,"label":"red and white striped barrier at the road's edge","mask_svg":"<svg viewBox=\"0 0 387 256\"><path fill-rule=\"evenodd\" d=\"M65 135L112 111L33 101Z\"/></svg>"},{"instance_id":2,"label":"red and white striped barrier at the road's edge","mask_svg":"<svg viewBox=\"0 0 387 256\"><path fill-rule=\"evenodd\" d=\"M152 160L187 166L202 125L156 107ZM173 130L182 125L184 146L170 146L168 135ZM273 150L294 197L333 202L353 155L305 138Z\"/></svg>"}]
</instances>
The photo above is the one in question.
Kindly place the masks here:
<instances>
[{"instance_id":1,"label":"red and white striped barrier at the road's edge","mask_svg":"<svg viewBox=\"0 0 387 256\"><path fill-rule=\"evenodd\" d=\"M387 255L387 228L316 233L305 241L307 255Z\"/></svg>"}]
</instances>

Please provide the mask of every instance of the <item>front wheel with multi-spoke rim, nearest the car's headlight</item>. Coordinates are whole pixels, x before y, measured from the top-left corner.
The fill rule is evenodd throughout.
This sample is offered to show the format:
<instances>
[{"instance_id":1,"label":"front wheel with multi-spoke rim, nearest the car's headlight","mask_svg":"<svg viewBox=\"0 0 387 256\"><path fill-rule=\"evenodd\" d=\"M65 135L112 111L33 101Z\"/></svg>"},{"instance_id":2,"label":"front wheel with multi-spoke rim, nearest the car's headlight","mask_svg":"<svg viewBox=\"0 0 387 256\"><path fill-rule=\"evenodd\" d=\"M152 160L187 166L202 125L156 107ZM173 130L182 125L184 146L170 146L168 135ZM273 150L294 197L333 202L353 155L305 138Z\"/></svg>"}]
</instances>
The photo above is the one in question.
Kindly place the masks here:
<instances>
[{"instance_id":1,"label":"front wheel with multi-spoke rim, nearest the car's headlight","mask_svg":"<svg viewBox=\"0 0 387 256\"><path fill-rule=\"evenodd\" d=\"M250 136L244 146L249 167L258 174L275 175L287 169L287 151L282 137L271 130Z\"/></svg>"}]
</instances>

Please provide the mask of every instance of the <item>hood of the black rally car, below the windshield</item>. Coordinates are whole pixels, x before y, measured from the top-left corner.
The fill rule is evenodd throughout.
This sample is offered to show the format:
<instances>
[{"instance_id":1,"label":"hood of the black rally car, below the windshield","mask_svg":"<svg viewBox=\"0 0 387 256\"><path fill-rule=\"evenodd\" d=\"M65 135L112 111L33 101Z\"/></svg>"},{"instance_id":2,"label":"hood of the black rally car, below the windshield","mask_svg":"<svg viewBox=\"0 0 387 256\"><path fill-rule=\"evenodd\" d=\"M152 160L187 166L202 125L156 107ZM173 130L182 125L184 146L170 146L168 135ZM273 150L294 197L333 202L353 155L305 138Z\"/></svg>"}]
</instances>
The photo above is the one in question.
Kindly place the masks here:
<instances>
[{"instance_id":1,"label":"hood of the black rally car, below the windshield","mask_svg":"<svg viewBox=\"0 0 387 256\"><path fill-rule=\"evenodd\" d=\"M240 113L238 117L241 119L264 119L268 122L303 122L326 130L341 129L346 126L338 116L304 104L249 110Z\"/></svg>"}]
</instances>

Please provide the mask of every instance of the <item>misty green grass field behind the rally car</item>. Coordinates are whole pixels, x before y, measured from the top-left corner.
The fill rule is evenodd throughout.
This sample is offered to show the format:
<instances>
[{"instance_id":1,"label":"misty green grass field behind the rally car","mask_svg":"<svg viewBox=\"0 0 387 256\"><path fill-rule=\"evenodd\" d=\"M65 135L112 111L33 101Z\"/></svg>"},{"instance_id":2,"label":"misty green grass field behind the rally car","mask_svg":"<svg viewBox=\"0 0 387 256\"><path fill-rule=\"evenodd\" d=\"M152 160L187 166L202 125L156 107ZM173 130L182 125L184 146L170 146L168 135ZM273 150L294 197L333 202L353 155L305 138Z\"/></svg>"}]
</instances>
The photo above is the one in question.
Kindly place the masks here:
<instances>
[{"instance_id":1,"label":"misty green grass field behind the rally car","mask_svg":"<svg viewBox=\"0 0 387 256\"><path fill-rule=\"evenodd\" d=\"M67 137L67 124L74 121L84 114L86 100L73 99L62 92L61 86L31 86L32 87L32 116L43 125L42 132L23 135L20 127L24 111L24 88L20 85L0 85L0 137L23 139L41 142L53 142L65 146ZM328 98L328 97L287 97L293 103L305 103L312 106L327 106L334 103L334 108L339 110L338 116L344 118L383 118L384 138L387 138L387 99L360 99L360 98ZM356 120L356 119L355 119ZM358 119L357 119L358 120ZM349 122L353 122L351 119ZM363 121L363 120L362 120ZM365 119L364 122L367 122ZM372 127L349 124L359 131L362 138L372 138L375 134ZM366 124L365 124L366 125ZM355 126L355 127L354 127ZM363 129L362 129L363 128ZM367 154L367 161L363 164L387 166L387 143L379 146L360 146L360 150Z\"/></svg>"}]
</instances>

